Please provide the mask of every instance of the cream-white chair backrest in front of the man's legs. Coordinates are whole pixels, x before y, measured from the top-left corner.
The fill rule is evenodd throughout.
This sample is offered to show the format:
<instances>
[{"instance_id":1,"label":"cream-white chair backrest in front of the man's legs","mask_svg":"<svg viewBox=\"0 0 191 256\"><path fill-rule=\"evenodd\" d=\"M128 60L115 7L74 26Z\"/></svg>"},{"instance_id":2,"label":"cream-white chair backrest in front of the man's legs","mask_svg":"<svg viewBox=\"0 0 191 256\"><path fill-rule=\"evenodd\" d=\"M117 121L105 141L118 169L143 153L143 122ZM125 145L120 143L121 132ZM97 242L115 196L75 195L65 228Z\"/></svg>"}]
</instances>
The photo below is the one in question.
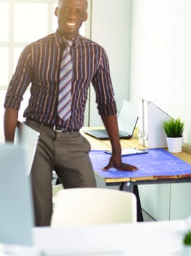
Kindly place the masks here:
<instances>
[{"instance_id":1,"label":"cream-white chair backrest in front of the man's legs","mask_svg":"<svg viewBox=\"0 0 191 256\"><path fill-rule=\"evenodd\" d=\"M136 222L133 193L102 188L63 189L58 192L52 227Z\"/></svg>"}]
</instances>

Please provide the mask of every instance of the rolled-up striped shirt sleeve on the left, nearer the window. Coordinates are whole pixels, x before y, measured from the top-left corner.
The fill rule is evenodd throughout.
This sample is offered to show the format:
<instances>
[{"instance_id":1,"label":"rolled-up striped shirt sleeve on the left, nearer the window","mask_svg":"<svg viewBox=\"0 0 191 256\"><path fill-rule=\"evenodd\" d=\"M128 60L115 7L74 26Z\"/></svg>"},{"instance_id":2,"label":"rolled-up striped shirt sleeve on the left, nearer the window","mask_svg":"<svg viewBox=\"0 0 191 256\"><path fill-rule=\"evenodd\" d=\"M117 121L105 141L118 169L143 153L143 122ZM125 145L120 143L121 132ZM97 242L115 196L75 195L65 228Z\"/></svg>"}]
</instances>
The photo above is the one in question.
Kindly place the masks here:
<instances>
[{"instance_id":1,"label":"rolled-up striped shirt sleeve on the left, nearer the window","mask_svg":"<svg viewBox=\"0 0 191 256\"><path fill-rule=\"evenodd\" d=\"M19 110L29 83L31 82L31 50L29 47L23 50L17 63L15 74L9 83L4 101L4 108Z\"/></svg>"}]
</instances>

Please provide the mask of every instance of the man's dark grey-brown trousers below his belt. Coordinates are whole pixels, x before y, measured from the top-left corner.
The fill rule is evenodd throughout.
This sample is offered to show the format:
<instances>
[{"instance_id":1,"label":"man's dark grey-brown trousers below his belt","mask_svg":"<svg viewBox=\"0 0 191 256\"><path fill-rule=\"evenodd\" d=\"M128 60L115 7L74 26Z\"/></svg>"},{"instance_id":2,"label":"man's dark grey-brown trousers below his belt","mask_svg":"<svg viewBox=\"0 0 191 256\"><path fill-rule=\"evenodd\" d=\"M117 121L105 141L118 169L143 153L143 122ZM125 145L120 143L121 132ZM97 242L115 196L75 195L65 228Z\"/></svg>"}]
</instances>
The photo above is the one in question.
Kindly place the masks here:
<instances>
[{"instance_id":1,"label":"man's dark grey-brown trousers below his belt","mask_svg":"<svg viewBox=\"0 0 191 256\"><path fill-rule=\"evenodd\" d=\"M52 171L63 187L96 187L90 162L90 143L80 132L54 132L31 119L26 124L40 132L31 169L36 226L50 225L52 216Z\"/></svg>"}]
</instances>

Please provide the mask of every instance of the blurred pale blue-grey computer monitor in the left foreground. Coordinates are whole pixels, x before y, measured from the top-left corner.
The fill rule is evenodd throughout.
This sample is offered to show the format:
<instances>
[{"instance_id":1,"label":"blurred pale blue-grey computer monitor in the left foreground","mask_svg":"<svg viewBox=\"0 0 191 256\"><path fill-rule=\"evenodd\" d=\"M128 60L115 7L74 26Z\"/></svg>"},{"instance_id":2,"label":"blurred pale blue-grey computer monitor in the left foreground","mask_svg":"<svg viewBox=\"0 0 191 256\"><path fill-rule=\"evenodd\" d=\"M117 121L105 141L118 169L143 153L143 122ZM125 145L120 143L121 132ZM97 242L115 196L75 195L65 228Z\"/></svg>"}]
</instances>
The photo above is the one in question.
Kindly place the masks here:
<instances>
[{"instance_id":1,"label":"blurred pale blue-grey computer monitor in the left foreground","mask_svg":"<svg viewBox=\"0 0 191 256\"><path fill-rule=\"evenodd\" d=\"M34 214L23 146L0 144L0 244L32 245Z\"/></svg>"}]
</instances>

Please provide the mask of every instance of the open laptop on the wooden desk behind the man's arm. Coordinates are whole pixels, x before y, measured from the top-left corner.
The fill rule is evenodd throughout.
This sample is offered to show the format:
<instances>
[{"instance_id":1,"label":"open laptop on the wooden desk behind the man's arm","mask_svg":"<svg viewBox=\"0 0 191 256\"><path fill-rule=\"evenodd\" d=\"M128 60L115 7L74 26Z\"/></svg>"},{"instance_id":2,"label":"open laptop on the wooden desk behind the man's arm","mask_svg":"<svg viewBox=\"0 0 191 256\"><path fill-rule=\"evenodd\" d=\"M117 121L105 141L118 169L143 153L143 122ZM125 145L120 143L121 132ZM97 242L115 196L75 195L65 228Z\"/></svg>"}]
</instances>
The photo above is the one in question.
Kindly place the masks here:
<instances>
[{"instance_id":1,"label":"open laptop on the wooden desk behind the man's arm","mask_svg":"<svg viewBox=\"0 0 191 256\"><path fill-rule=\"evenodd\" d=\"M117 115L120 139L130 139L138 121L138 105L128 100L122 100L120 111ZM83 129L87 135L100 140L109 140L106 129Z\"/></svg>"}]
</instances>

